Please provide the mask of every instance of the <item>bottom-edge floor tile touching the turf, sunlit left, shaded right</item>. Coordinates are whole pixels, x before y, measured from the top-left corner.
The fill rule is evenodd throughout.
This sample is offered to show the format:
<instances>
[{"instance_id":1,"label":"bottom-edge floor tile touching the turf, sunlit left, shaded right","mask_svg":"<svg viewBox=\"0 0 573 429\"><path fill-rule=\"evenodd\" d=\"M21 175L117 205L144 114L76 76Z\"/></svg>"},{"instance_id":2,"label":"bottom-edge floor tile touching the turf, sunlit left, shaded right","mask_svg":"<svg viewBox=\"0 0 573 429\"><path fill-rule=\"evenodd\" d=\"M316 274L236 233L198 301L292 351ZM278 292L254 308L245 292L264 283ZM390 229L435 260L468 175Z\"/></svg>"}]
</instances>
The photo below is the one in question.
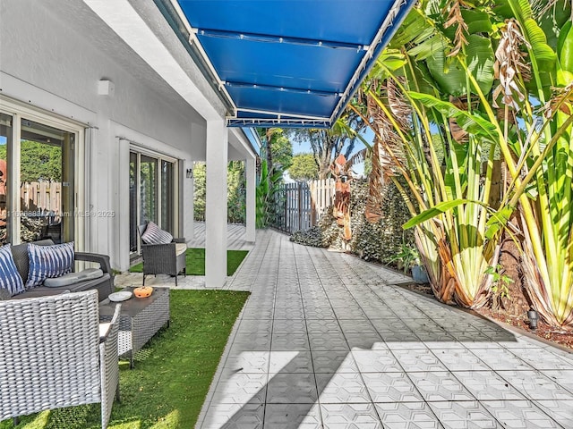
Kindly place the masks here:
<instances>
[{"instance_id":1,"label":"bottom-edge floor tile touching the turf, sunlit left, shaded right","mask_svg":"<svg viewBox=\"0 0 573 429\"><path fill-rule=\"evenodd\" d=\"M263 404L218 404L210 409L201 429L262 429Z\"/></svg>"}]
</instances>

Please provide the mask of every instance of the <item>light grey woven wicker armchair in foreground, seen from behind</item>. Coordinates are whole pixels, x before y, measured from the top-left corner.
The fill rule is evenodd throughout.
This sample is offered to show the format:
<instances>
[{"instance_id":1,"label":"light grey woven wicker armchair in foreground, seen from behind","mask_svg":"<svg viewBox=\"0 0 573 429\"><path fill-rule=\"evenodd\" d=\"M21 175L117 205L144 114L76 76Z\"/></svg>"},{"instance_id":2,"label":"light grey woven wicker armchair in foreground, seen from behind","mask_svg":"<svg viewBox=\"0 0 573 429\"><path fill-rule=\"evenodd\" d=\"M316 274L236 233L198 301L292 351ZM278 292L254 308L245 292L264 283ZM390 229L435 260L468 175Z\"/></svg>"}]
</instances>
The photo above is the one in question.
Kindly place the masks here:
<instances>
[{"instance_id":1,"label":"light grey woven wicker armchair in foreground, seen from behind","mask_svg":"<svg viewBox=\"0 0 573 429\"><path fill-rule=\"evenodd\" d=\"M0 420L119 399L120 305L101 332L98 291L0 301Z\"/></svg>"}]
</instances>

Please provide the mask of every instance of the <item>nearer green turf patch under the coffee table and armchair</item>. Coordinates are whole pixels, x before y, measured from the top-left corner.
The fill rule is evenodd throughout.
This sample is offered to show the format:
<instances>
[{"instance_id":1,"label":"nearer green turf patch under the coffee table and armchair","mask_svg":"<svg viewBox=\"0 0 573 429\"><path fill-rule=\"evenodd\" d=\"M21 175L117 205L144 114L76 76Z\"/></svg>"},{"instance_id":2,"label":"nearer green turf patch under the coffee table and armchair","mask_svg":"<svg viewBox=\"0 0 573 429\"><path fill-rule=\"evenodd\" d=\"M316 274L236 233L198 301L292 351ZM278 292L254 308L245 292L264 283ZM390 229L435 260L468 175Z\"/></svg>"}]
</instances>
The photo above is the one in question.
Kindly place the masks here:
<instances>
[{"instance_id":1,"label":"nearer green turf patch under the coffee table and armchair","mask_svg":"<svg viewBox=\"0 0 573 429\"><path fill-rule=\"evenodd\" d=\"M217 369L235 319L248 292L171 290L171 324L135 359L122 363L121 402L115 402L111 429L192 428ZM62 408L21 417L18 428L96 429L99 405ZM12 420L0 429L13 428Z\"/></svg>"}]
</instances>

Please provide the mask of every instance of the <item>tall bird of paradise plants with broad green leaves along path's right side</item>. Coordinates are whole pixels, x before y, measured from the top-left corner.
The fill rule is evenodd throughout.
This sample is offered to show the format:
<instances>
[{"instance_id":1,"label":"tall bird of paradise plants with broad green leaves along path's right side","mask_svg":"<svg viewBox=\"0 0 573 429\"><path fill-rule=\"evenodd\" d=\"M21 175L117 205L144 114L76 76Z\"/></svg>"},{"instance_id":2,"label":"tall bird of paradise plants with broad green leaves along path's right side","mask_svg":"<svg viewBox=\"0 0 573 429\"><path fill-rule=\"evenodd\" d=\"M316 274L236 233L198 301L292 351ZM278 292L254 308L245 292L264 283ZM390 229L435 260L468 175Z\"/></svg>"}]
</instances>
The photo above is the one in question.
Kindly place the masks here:
<instances>
[{"instance_id":1,"label":"tall bird of paradise plants with broad green leaves along path's right side","mask_svg":"<svg viewBox=\"0 0 573 429\"><path fill-rule=\"evenodd\" d=\"M490 6L488 1L420 2L392 41L398 51L387 49L365 84L370 103L363 114L370 118L375 144L383 147L381 155L391 161L386 176L403 174L415 196L408 206L417 215L408 226L417 229L436 296L466 307L486 302L492 281L486 272L497 264L500 225L509 226L509 214L519 206L522 228L511 235L523 242L529 296L546 321L567 325L573 319L567 75L560 71L563 79L552 79L557 55L526 0L508 0L502 12ZM444 10L447 21L440 21ZM517 37L521 29L523 41ZM499 39L497 58L492 38ZM511 38L517 38L513 45ZM559 55L567 63L569 32L563 40ZM397 57L403 64L394 67ZM376 81L395 82L411 108L409 124L398 121L388 84L372 87ZM561 87L549 103L548 82ZM535 102L549 106L544 116ZM489 203L498 157L508 180L495 212Z\"/></svg>"}]
</instances>

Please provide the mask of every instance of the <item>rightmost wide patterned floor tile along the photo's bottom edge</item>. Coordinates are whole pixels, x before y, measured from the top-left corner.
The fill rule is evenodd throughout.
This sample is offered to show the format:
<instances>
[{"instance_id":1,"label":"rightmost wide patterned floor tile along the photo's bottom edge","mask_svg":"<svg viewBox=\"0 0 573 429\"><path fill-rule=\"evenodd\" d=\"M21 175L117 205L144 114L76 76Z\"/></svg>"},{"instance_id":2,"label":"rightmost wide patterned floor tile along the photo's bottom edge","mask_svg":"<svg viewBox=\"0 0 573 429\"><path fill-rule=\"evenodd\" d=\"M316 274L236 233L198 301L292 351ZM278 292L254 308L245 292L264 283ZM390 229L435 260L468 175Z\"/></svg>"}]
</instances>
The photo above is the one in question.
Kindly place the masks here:
<instances>
[{"instance_id":1,"label":"rightmost wide patterned floor tile along the photo's bottom edge","mask_svg":"<svg viewBox=\"0 0 573 429\"><path fill-rule=\"evenodd\" d=\"M508 429L560 427L552 417L547 416L528 400L484 400L482 405L492 413L503 427Z\"/></svg>"}]
</instances>

